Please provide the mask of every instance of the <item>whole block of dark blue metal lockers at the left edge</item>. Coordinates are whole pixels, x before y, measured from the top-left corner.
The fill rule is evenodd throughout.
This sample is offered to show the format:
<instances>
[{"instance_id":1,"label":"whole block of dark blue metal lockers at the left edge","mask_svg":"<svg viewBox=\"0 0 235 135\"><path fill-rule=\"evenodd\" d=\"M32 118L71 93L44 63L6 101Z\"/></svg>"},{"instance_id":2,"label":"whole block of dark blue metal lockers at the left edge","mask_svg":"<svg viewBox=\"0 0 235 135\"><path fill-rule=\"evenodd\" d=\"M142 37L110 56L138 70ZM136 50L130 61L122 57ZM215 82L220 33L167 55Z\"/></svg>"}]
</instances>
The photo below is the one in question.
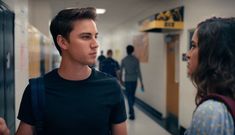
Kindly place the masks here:
<instances>
[{"instance_id":1,"label":"whole block of dark blue metal lockers at the left edge","mask_svg":"<svg viewBox=\"0 0 235 135\"><path fill-rule=\"evenodd\" d=\"M15 131L14 13L0 1L0 116Z\"/></svg>"}]
</instances>

